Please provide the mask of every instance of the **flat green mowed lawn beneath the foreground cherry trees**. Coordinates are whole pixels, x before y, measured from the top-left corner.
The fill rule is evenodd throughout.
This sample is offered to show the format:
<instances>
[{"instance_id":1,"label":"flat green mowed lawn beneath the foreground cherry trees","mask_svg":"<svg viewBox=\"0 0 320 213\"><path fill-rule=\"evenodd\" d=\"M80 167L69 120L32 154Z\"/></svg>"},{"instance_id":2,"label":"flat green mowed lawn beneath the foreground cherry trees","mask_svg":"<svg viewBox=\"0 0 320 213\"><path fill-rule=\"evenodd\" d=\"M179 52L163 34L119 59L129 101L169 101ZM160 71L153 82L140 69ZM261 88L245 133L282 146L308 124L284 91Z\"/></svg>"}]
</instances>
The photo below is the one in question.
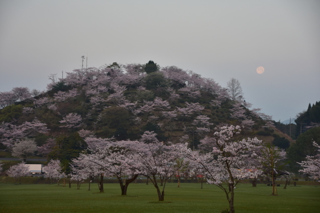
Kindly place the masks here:
<instances>
[{"instance_id":1,"label":"flat green mowed lawn beneath the foreground cherry trees","mask_svg":"<svg viewBox=\"0 0 320 213\"><path fill-rule=\"evenodd\" d=\"M235 191L236 212L320 212L320 186L277 187L272 196L270 186L239 184ZM121 196L119 184L82 184L76 189L56 184L0 183L0 212L221 212L229 206L225 193L214 185L167 183L164 202L157 201L152 184L132 183L128 195Z\"/></svg>"}]
</instances>

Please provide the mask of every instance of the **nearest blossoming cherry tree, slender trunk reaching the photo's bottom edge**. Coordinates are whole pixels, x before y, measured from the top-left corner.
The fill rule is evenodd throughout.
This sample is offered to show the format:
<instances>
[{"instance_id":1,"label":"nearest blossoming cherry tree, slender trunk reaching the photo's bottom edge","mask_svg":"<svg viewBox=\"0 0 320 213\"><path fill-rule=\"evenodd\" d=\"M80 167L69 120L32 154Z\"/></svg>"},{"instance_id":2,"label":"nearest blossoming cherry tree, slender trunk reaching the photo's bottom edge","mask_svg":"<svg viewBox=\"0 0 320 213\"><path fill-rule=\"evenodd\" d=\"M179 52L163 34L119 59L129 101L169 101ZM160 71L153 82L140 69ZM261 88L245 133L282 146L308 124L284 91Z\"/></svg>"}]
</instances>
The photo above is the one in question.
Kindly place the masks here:
<instances>
[{"instance_id":1,"label":"nearest blossoming cherry tree, slender trunk reaching the photo's bottom edge","mask_svg":"<svg viewBox=\"0 0 320 213\"><path fill-rule=\"evenodd\" d=\"M188 159L200 164L209 184L215 184L221 188L227 196L230 212L234 213L234 189L243 179L249 178L253 169L250 161L255 153L251 149L261 143L257 138L233 140L240 134L239 126L222 127L211 138L213 149L209 153L192 151L185 146L180 147L181 153ZM217 157L216 157L217 156Z\"/></svg>"}]
</instances>

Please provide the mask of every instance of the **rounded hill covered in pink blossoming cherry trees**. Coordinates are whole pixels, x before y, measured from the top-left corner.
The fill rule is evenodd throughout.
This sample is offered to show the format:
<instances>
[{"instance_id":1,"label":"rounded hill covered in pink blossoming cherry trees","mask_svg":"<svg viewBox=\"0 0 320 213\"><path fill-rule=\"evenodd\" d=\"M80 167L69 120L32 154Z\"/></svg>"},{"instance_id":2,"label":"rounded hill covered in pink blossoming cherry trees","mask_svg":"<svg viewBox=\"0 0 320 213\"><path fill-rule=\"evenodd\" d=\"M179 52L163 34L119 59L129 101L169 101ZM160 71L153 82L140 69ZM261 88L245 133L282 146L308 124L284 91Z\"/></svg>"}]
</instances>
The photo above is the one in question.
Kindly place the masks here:
<instances>
[{"instance_id":1,"label":"rounded hill covered in pink blossoming cherry trees","mask_svg":"<svg viewBox=\"0 0 320 213\"><path fill-rule=\"evenodd\" d=\"M0 93L2 150L27 137L38 154L71 159L94 138L141 140L148 131L164 143L197 149L226 124L243 126L251 136L274 131L271 117L242 96L232 98L214 79L175 66L113 63L50 79L40 94L26 87Z\"/></svg>"}]
</instances>

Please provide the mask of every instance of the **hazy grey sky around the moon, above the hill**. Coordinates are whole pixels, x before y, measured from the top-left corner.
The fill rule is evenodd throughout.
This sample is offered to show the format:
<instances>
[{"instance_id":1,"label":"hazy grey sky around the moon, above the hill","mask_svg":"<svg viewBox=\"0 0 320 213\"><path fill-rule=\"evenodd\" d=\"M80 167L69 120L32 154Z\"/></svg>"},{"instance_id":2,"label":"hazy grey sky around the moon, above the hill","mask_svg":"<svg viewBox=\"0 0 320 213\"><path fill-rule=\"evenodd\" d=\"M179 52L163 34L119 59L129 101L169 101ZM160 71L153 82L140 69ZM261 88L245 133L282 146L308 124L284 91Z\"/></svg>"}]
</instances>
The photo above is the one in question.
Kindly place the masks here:
<instances>
[{"instance_id":1,"label":"hazy grey sky around the moon, above the hill","mask_svg":"<svg viewBox=\"0 0 320 213\"><path fill-rule=\"evenodd\" d=\"M88 66L175 65L284 121L320 100L320 1L0 0L0 91ZM258 74L256 68L265 72Z\"/></svg>"}]
</instances>

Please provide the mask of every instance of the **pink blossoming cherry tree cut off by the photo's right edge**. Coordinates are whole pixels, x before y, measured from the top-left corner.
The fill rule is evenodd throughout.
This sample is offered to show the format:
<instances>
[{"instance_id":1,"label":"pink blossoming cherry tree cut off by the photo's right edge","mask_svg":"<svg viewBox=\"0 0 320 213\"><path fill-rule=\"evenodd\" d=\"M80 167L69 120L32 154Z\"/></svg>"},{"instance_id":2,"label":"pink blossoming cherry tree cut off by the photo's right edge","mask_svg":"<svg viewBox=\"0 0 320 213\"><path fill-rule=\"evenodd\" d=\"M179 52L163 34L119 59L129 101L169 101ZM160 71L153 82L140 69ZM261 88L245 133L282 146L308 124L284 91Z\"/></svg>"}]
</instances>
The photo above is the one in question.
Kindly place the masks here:
<instances>
[{"instance_id":1,"label":"pink blossoming cherry tree cut off by the photo's right edge","mask_svg":"<svg viewBox=\"0 0 320 213\"><path fill-rule=\"evenodd\" d=\"M317 154L315 156L306 156L306 160L299 163L303 169L299 172L310 175L311 179L317 180L320 182L320 146L313 142L313 146L318 148Z\"/></svg>"}]
</instances>

